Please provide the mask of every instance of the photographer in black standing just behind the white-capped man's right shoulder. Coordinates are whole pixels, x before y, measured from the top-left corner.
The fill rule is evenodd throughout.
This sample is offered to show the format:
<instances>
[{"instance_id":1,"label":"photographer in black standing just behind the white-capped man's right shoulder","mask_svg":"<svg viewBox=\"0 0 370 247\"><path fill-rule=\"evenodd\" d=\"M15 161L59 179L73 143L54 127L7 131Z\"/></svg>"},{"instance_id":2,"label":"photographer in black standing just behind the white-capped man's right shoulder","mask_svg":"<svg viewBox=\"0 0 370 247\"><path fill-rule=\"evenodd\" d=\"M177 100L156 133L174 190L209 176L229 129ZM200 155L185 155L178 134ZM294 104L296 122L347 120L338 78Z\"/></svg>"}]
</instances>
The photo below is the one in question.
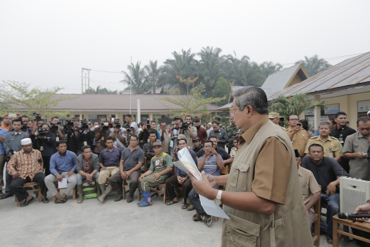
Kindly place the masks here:
<instances>
[{"instance_id":1,"label":"photographer in black standing just behind the white-capped man's right shoulder","mask_svg":"<svg viewBox=\"0 0 370 247\"><path fill-rule=\"evenodd\" d=\"M33 141L33 148L41 152L45 167L45 176L50 174L50 157L54 154L56 135L49 132L49 124L42 124L37 128Z\"/></svg>"}]
</instances>

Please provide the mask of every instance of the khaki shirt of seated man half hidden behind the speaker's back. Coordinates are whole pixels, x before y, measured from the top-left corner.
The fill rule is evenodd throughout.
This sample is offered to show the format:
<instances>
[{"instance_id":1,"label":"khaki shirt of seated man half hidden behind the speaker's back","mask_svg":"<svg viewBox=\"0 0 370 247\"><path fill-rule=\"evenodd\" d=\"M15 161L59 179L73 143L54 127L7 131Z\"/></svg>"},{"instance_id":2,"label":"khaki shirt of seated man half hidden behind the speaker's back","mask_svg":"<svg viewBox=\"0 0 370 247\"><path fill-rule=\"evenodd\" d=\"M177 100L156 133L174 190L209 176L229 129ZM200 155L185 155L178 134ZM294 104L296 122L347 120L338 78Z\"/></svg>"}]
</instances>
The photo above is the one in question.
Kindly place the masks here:
<instances>
[{"instance_id":1,"label":"khaki shirt of seated man half hidden behind the speaker's back","mask_svg":"<svg viewBox=\"0 0 370 247\"><path fill-rule=\"evenodd\" d=\"M304 204L306 205L312 198L314 193L321 191L316 178L314 178L312 172L299 165L298 167L299 183L301 183L302 195L304 197ZM313 207L310 211L314 213Z\"/></svg>"}]
</instances>

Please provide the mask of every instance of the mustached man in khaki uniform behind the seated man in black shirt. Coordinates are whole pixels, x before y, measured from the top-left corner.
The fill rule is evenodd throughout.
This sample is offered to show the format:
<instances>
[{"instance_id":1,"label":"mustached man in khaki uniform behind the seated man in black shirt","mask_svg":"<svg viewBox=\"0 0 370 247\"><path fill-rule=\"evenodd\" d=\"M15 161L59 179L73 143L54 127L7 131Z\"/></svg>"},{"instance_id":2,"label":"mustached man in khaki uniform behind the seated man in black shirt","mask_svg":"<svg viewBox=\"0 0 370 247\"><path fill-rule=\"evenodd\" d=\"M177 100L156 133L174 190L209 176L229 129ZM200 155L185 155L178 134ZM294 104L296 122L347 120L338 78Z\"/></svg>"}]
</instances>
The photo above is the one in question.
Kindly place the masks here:
<instances>
[{"instance_id":1,"label":"mustached man in khaki uniform behind the seated man in black shirt","mask_svg":"<svg viewBox=\"0 0 370 247\"><path fill-rule=\"evenodd\" d=\"M342 145L341 142L338 141L335 137L330 137L331 125L327 122L321 122L319 124L319 136L311 137L306 145L306 156L308 154L308 147L312 144L319 144L323 146L324 149L324 156L334 158L337 162L341 161L342 154Z\"/></svg>"}]
</instances>

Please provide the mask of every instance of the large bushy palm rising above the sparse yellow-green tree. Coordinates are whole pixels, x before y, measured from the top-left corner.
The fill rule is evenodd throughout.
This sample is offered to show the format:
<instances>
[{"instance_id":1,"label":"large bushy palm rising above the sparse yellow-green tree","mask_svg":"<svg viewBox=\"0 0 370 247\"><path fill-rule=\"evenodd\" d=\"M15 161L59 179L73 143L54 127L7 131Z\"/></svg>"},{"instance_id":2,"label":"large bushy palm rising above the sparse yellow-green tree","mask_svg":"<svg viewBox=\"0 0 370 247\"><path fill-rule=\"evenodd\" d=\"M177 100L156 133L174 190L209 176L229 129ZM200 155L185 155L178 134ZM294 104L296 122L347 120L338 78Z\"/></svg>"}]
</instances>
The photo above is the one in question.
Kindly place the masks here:
<instances>
[{"instance_id":1,"label":"large bushy palm rising above the sparse yellow-green tree","mask_svg":"<svg viewBox=\"0 0 370 247\"><path fill-rule=\"evenodd\" d=\"M173 59L167 59L164 61L163 73L164 73L164 84L169 84L176 89L180 89L180 93L186 93L186 85L180 83L176 76L179 75L181 78L189 78L196 76L195 66L196 60L194 59L195 53L191 52L191 49L177 53L172 52Z\"/></svg>"}]
</instances>

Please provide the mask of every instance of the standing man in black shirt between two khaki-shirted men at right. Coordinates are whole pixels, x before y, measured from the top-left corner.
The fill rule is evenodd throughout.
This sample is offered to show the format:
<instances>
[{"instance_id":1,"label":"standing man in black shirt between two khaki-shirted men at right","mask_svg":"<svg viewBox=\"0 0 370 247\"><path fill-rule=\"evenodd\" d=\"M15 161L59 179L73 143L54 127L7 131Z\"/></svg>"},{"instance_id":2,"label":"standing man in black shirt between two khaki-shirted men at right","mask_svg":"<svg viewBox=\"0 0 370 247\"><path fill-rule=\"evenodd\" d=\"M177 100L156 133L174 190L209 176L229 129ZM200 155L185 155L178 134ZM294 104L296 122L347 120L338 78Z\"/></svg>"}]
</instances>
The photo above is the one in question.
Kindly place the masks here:
<instances>
[{"instance_id":1,"label":"standing man in black shirt between two khaki-shirted men at right","mask_svg":"<svg viewBox=\"0 0 370 247\"><path fill-rule=\"evenodd\" d=\"M345 123L347 122L347 114L343 112L338 112L334 116L334 121L336 122L336 127L330 132L330 137L335 137L338 141L341 142L344 147L345 139L356 133L356 130L349 128ZM345 172L349 174L349 159L342 157L339 164L345 169Z\"/></svg>"}]
</instances>

